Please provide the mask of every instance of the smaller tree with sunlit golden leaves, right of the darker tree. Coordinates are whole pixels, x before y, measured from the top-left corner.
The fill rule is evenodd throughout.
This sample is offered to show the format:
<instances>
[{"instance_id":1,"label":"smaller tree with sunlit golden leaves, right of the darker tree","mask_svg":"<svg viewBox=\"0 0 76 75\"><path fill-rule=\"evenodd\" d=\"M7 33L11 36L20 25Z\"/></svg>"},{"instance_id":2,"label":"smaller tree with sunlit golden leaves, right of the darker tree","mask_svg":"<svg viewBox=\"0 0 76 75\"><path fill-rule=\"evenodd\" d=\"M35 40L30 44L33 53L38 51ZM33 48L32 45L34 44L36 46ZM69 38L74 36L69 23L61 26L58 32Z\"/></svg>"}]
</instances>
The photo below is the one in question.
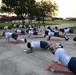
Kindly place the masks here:
<instances>
[{"instance_id":1,"label":"smaller tree with sunlit golden leaves, right of the darker tree","mask_svg":"<svg viewBox=\"0 0 76 75\"><path fill-rule=\"evenodd\" d=\"M39 9L41 11L40 16L43 17L43 23L44 23L44 17L45 16L55 16L57 15L58 6L55 2L52 1L40 1L38 2Z\"/></svg>"}]
</instances>

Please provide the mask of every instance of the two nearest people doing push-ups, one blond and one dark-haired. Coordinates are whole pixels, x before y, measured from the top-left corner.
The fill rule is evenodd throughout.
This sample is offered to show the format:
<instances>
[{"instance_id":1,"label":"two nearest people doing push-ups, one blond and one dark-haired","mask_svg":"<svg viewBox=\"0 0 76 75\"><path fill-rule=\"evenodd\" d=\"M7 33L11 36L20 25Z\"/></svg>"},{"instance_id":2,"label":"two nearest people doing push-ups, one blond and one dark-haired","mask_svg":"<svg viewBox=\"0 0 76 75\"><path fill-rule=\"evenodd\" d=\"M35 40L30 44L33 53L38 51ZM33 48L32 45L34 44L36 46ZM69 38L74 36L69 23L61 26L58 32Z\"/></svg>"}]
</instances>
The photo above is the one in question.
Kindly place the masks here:
<instances>
[{"instance_id":1,"label":"two nearest people doing push-ups, one blond and one dark-haired","mask_svg":"<svg viewBox=\"0 0 76 75\"><path fill-rule=\"evenodd\" d=\"M61 44L48 43L46 41L32 41L27 43L27 47L29 50L24 50L26 53L32 53L33 49L37 48L44 49L44 51L49 50L54 55L54 63L65 66L76 75L76 57L70 57ZM52 69L52 71L54 72L55 69Z\"/></svg>"}]
</instances>

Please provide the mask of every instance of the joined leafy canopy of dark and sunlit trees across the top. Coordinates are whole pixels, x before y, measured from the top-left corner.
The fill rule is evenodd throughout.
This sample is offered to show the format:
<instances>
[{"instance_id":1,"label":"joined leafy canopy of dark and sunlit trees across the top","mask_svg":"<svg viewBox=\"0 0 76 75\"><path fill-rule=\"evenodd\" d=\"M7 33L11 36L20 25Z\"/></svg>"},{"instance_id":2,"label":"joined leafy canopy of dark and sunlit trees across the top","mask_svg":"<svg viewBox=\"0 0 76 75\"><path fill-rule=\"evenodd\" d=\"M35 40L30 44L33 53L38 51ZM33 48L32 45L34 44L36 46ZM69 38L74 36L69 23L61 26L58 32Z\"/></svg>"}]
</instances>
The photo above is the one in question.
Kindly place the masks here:
<instances>
[{"instance_id":1,"label":"joined leafy canopy of dark and sunlit trees across the top","mask_svg":"<svg viewBox=\"0 0 76 75\"><path fill-rule=\"evenodd\" d=\"M44 17L45 16L55 16L58 11L58 6L55 2L52 1L40 1L36 2L35 0L2 0L1 11L5 13L15 13L18 16L28 15Z\"/></svg>"}]
</instances>

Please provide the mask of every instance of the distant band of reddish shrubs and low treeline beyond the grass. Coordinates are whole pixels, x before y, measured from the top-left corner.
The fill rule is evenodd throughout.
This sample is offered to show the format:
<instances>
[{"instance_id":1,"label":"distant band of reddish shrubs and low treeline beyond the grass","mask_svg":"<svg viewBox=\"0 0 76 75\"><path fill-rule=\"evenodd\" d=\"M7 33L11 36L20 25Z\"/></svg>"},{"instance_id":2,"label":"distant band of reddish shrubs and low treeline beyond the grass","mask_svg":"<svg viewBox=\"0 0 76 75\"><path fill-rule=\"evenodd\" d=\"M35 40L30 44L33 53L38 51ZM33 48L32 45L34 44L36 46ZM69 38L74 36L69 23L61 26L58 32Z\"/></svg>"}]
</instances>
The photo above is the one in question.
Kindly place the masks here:
<instances>
[{"instance_id":1,"label":"distant band of reddish shrubs and low treeline beyond the grass","mask_svg":"<svg viewBox=\"0 0 76 75\"><path fill-rule=\"evenodd\" d=\"M0 17L0 22L6 22L6 21L12 21L12 20L26 20L28 19L28 17L22 17L22 16L6 16L3 15ZM31 16L31 20L43 20L43 18L35 18L34 16ZM67 20L67 21L76 21L76 18L61 18L61 17L44 17L45 21L55 21L55 20Z\"/></svg>"}]
</instances>

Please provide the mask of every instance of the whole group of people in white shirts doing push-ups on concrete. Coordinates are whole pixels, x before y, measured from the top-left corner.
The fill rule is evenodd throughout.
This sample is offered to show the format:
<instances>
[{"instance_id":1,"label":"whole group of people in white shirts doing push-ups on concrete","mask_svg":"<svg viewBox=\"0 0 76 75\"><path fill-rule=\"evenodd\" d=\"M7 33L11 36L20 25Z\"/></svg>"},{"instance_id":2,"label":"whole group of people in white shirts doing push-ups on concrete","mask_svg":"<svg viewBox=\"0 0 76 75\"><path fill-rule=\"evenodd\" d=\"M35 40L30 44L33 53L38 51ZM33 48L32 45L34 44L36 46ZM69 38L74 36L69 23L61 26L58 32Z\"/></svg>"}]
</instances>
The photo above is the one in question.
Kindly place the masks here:
<instances>
[{"instance_id":1,"label":"whole group of people in white shirts doing push-ups on concrete","mask_svg":"<svg viewBox=\"0 0 76 75\"><path fill-rule=\"evenodd\" d=\"M67 67L72 73L74 73L76 75L76 57L70 57L67 52L64 50L62 44L52 44L52 43L48 43L46 41L32 41L32 42L28 42L26 38L19 38L18 34L28 34L28 37L30 37L30 35L39 35L38 32L36 31L35 27L31 26L26 30L20 30L20 29L16 29L14 32L8 32L7 29L9 29L9 27L5 27L3 32L0 34L0 37L5 36L6 39L6 43L10 43L10 37L12 37L13 39L16 40L16 42L25 42L27 43L27 47L29 48L29 50L24 50L26 53L32 53L33 49L37 49L37 48L41 48L45 50L50 50L50 52L52 54L54 54L54 62L56 64L62 64L65 67ZM46 37L48 36L47 40L50 40L52 36L56 36L56 37L62 37L65 38L66 41L69 40L69 38L66 36L67 32L73 33L73 30L71 30L70 28L67 29L59 29L57 27L55 27L55 29L59 30L62 32L62 34L60 34L59 32L56 32L54 30L52 30L50 27L46 27L45 33L44 35L42 35L42 37ZM73 41L75 41L76 44L76 37L73 38ZM54 70L54 69L53 69Z\"/></svg>"}]
</instances>

